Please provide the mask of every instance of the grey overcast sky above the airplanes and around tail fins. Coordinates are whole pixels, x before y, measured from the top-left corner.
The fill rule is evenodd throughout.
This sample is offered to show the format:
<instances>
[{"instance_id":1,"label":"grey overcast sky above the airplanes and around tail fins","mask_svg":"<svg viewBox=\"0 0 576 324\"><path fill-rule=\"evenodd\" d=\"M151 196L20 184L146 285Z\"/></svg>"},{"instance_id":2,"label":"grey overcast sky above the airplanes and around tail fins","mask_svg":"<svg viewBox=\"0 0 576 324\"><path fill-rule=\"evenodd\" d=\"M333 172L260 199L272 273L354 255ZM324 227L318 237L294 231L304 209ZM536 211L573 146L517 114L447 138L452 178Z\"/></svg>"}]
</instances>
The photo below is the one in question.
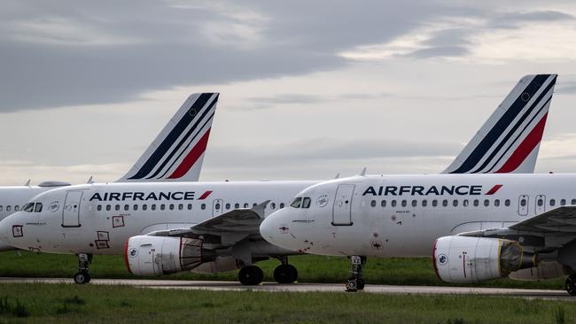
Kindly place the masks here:
<instances>
[{"instance_id":1,"label":"grey overcast sky above the airplanes and around tail fins","mask_svg":"<svg viewBox=\"0 0 576 324\"><path fill-rule=\"evenodd\" d=\"M0 184L113 181L200 91L203 181L438 173L528 73L576 172L576 3L502 3L3 1Z\"/></svg>"}]
</instances>

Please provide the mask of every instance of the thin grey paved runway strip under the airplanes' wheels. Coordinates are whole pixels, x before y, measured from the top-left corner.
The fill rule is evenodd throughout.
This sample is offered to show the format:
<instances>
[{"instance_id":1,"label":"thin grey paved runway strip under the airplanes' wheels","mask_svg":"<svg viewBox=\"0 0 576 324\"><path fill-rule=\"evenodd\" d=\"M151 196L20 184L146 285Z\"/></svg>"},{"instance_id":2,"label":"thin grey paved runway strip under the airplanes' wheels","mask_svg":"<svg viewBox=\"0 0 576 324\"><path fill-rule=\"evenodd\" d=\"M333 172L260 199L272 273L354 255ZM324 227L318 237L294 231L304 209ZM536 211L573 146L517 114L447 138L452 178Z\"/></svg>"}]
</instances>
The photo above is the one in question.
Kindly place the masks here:
<instances>
[{"instance_id":1,"label":"thin grey paved runway strip under the airplanes' wheels","mask_svg":"<svg viewBox=\"0 0 576 324\"><path fill-rule=\"evenodd\" d=\"M0 278L1 283L70 283L68 278ZM200 282L175 280L138 280L138 279L92 279L90 284L97 285L128 285L154 289L206 289L206 290L251 290L251 291L288 291L288 292L342 292L344 284L337 283L293 283L279 284L276 282L263 282L259 286L243 286L239 282ZM502 289L502 288L475 288L475 287L434 287L434 286L387 286L367 284L364 293L374 294L412 294L412 295L485 295L507 296L542 299L566 299L576 301L564 290L546 289Z\"/></svg>"}]
</instances>

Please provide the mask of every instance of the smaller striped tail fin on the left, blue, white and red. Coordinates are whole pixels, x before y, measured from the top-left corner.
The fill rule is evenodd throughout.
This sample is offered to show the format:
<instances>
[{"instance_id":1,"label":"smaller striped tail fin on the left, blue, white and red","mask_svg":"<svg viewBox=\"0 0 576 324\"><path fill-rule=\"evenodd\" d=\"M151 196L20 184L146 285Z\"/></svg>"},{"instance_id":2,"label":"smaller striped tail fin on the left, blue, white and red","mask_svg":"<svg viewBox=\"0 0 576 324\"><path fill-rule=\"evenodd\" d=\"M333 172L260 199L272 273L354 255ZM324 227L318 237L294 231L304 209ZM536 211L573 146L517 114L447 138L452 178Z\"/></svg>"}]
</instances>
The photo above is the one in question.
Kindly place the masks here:
<instances>
[{"instance_id":1,"label":"smaller striped tail fin on the left, blue, white and red","mask_svg":"<svg viewBox=\"0 0 576 324\"><path fill-rule=\"evenodd\" d=\"M128 174L117 182L198 181L218 96L189 96Z\"/></svg>"}]
</instances>

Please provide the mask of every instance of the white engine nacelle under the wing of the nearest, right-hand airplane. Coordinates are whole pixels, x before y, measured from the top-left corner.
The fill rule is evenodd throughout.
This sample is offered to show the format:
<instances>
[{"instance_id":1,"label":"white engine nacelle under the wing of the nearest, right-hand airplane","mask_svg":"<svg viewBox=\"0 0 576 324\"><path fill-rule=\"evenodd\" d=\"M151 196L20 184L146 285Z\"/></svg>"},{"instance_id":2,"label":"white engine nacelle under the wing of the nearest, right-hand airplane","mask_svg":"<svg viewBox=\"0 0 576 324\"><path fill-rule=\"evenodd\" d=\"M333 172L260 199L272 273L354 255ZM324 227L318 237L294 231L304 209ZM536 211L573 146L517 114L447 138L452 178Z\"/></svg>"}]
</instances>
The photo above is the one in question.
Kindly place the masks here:
<instances>
[{"instance_id":1,"label":"white engine nacelle under the wing of the nearest, right-hand airplane","mask_svg":"<svg viewBox=\"0 0 576 324\"><path fill-rule=\"evenodd\" d=\"M468 236L440 237L432 258L440 280L455 283L502 278L536 263L516 241Z\"/></svg>"}]
</instances>

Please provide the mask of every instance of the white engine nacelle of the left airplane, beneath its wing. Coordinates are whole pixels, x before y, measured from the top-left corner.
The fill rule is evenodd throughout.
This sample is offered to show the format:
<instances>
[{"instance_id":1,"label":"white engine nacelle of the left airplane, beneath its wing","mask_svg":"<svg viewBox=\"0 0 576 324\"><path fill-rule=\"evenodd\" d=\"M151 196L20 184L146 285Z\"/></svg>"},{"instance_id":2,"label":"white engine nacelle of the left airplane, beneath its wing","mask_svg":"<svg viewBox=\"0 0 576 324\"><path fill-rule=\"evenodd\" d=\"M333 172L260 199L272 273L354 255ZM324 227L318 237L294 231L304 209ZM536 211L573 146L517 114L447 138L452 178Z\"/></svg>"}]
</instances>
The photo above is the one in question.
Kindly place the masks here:
<instances>
[{"instance_id":1,"label":"white engine nacelle of the left airplane, beneath its wing","mask_svg":"<svg viewBox=\"0 0 576 324\"><path fill-rule=\"evenodd\" d=\"M214 260L202 240L154 235L132 236L125 243L124 260L131 274L175 274Z\"/></svg>"}]
</instances>

